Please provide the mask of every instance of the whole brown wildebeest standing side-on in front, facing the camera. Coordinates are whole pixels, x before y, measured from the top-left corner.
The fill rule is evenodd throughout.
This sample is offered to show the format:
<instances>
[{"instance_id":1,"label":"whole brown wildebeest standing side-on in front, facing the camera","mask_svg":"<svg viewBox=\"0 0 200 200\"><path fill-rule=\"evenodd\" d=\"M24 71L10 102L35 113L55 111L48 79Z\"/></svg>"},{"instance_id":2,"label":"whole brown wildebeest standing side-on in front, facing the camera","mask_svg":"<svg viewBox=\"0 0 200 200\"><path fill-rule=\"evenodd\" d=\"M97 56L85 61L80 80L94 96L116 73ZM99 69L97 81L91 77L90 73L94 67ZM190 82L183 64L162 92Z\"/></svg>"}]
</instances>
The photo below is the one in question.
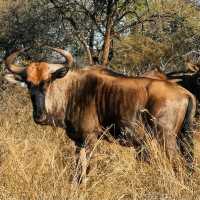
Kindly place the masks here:
<instances>
[{"instance_id":1,"label":"whole brown wildebeest standing side-on in front, facing the camera","mask_svg":"<svg viewBox=\"0 0 200 200\"><path fill-rule=\"evenodd\" d=\"M53 50L63 55L67 64L72 63L69 52ZM86 173L85 159L106 127L114 124L113 137L123 137L131 146L143 143L142 133L133 132L137 117L144 110L150 113L149 121L153 116L155 137L165 146L169 158L173 158L180 140L184 158L188 164L192 163L193 141L189 129L196 102L184 88L163 80L127 77L104 66L70 69L67 64L33 62L19 67L13 64L19 52L5 60L12 74L9 80L27 85L36 123L54 124L66 130L76 144L77 155L82 157L82 174Z\"/></svg>"}]
</instances>

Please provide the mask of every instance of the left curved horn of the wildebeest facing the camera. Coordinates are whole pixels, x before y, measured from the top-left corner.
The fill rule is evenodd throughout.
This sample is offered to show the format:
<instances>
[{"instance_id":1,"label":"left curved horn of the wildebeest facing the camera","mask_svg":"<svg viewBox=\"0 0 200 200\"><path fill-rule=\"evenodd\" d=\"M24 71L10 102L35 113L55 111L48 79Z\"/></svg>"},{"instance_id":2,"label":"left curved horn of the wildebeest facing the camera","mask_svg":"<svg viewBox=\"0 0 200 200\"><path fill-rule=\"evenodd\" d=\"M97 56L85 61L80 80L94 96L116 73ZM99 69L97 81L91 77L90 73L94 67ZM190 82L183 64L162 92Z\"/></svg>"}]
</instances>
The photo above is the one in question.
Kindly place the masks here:
<instances>
[{"instance_id":1,"label":"left curved horn of the wildebeest facing the camera","mask_svg":"<svg viewBox=\"0 0 200 200\"><path fill-rule=\"evenodd\" d=\"M8 57L6 57L4 62L5 62L6 68L11 73L20 74L25 70L25 67L19 67L19 66L16 66L16 65L13 64L16 57L18 56L18 54L23 52L24 50L25 50L25 48L17 50L15 52L11 53Z\"/></svg>"}]
</instances>

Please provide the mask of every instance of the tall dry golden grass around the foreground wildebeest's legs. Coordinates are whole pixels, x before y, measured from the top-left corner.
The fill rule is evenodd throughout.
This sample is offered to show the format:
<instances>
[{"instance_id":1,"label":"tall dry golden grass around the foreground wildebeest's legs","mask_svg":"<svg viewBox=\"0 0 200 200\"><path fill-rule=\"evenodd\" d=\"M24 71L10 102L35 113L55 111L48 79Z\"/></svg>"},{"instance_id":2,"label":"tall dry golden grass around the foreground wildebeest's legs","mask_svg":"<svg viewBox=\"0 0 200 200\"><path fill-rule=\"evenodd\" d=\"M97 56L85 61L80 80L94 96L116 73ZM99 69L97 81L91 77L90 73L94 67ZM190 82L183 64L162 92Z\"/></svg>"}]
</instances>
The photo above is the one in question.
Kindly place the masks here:
<instances>
[{"instance_id":1,"label":"tall dry golden grass around the foreground wildebeest's legs","mask_svg":"<svg viewBox=\"0 0 200 200\"><path fill-rule=\"evenodd\" d=\"M35 125L28 95L19 87L0 89L1 200L200 199L200 142L195 140L196 172L178 173L153 142L151 164L135 159L132 148L100 141L96 174L86 187L71 180L74 144L62 129Z\"/></svg>"}]
</instances>

